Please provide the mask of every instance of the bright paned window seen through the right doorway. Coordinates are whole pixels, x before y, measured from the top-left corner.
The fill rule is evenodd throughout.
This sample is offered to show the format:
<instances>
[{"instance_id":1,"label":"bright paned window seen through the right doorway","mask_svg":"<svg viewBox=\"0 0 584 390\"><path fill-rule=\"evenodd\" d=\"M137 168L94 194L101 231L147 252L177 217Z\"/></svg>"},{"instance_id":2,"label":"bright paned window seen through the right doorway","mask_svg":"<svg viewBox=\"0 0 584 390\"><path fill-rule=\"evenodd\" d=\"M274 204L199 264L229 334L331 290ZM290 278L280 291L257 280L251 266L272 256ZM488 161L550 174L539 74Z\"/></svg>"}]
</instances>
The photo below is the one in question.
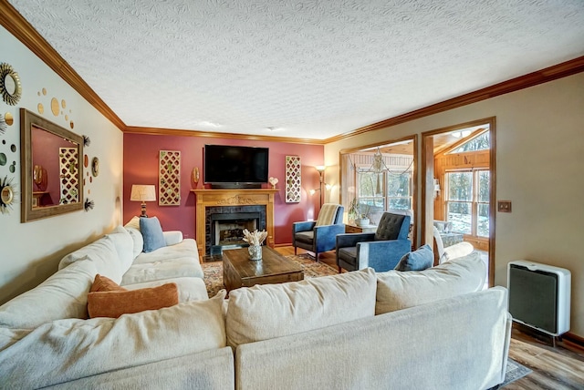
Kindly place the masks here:
<instances>
[{"instance_id":1,"label":"bright paned window seen through the right doorway","mask_svg":"<svg viewBox=\"0 0 584 390\"><path fill-rule=\"evenodd\" d=\"M489 171L469 169L446 172L446 214L453 231L489 236Z\"/></svg>"}]
</instances>

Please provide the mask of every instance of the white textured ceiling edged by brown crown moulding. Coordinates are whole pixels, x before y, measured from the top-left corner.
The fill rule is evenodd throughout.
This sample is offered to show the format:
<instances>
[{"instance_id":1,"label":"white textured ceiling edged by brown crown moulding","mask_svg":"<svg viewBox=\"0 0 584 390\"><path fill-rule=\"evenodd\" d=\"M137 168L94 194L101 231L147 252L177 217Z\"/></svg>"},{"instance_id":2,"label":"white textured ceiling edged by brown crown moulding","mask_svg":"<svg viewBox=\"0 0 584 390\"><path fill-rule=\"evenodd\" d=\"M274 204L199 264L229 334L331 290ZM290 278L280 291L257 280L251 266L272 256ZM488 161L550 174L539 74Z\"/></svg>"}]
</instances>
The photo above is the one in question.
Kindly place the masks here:
<instances>
[{"instance_id":1,"label":"white textured ceiling edged by brown crown moulding","mask_svg":"<svg viewBox=\"0 0 584 390\"><path fill-rule=\"evenodd\" d=\"M9 3L137 127L328 139L584 55L583 0Z\"/></svg>"}]
</instances>

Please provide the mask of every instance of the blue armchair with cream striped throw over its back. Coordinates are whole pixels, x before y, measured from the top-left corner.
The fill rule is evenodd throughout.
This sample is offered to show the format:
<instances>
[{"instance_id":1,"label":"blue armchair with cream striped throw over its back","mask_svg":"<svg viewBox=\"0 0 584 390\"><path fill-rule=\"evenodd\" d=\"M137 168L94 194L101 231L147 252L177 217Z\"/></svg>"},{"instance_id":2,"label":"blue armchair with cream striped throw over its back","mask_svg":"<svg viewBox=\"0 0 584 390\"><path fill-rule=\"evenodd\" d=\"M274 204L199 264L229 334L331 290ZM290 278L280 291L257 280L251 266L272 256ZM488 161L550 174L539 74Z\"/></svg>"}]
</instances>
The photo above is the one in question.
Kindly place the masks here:
<instances>
[{"instance_id":1,"label":"blue armchair with cream striped throw over its back","mask_svg":"<svg viewBox=\"0 0 584 390\"><path fill-rule=\"evenodd\" d=\"M317 221L294 222L292 224L292 245L294 254L297 248L313 251L318 261L318 253L332 251L337 244L337 234L345 232L343 206L325 203L320 208Z\"/></svg>"}]
</instances>

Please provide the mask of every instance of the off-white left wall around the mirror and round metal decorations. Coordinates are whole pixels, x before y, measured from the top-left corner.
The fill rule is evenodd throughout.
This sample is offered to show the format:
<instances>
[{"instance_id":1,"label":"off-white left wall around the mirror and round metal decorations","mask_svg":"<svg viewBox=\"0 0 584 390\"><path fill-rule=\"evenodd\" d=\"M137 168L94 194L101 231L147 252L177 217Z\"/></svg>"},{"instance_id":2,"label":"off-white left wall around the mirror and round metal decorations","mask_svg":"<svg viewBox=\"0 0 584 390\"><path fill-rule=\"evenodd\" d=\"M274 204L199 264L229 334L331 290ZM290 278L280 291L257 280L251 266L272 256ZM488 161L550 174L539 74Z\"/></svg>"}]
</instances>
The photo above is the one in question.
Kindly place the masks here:
<instances>
[{"instance_id":1,"label":"off-white left wall around the mirror and round metal decorations","mask_svg":"<svg viewBox=\"0 0 584 390\"><path fill-rule=\"evenodd\" d=\"M25 292L44 281L57 271L60 259L84 243L93 241L110 231L121 221L122 193L122 132L104 118L89 103L69 87L26 46L0 26L0 62L11 65L22 83L22 98L16 106L8 106L0 100L0 113L11 113L15 123L5 134L0 134L0 152L8 157L8 163L0 166L0 177L14 178L18 195L9 214L0 214L0 303ZM42 89L47 89L47 95ZM55 117L51 113L50 100L64 99L67 107ZM70 212L45 220L20 223L20 118L19 108L38 114L37 105L42 103L44 118L91 139L84 149L89 160L98 157L99 176L89 182L84 171L85 197L95 201L95 208ZM70 112L69 112L70 110ZM68 119L74 121L71 129ZM4 142L5 141L5 142ZM12 152L11 145L16 145ZM9 166L16 161L16 171ZM90 173L89 173L90 175Z\"/></svg>"}]
</instances>

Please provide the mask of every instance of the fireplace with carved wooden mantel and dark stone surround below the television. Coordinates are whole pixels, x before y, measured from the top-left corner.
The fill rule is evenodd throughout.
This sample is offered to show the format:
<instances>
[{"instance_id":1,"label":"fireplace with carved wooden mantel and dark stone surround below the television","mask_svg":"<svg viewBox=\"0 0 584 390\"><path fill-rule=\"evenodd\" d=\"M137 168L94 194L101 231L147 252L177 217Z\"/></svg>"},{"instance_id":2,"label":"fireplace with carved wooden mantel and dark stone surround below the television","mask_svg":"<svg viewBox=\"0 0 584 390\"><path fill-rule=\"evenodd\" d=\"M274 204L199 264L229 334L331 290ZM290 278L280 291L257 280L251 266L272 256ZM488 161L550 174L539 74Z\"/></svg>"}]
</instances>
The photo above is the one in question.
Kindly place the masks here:
<instances>
[{"instance_id":1,"label":"fireplace with carved wooden mantel and dark stone surround below the television","mask_svg":"<svg viewBox=\"0 0 584 390\"><path fill-rule=\"evenodd\" d=\"M203 261L204 256L211 255L212 247L216 245L217 231L222 230L225 231L223 233L224 239L229 241L235 241L233 236L238 235L237 233L240 230L265 230L267 231L266 245L274 248L274 195L278 190L225 189L192 191L196 197L195 235L201 261ZM235 216L228 216L228 214L235 214ZM254 222L247 220L257 221L255 221L254 225ZM219 232L218 234L220 241L222 241L221 233ZM232 245L232 243L226 243L226 245ZM214 254L221 253L223 249L218 250L218 248L215 248L213 250Z\"/></svg>"}]
</instances>

